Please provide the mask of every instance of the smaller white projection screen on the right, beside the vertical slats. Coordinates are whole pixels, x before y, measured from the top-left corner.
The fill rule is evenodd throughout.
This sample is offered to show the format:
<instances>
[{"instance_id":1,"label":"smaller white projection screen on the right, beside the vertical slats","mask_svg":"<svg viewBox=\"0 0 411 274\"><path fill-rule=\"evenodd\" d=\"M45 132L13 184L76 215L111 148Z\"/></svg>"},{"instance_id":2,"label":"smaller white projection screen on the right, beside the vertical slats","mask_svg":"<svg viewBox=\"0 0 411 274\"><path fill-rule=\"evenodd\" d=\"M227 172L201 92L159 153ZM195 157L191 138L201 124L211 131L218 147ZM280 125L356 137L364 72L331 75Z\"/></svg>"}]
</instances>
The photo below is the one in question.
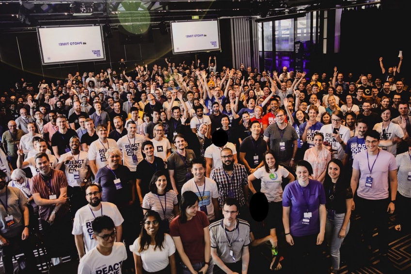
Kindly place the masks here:
<instances>
[{"instance_id":1,"label":"smaller white projection screen on the right, beside the vertical slats","mask_svg":"<svg viewBox=\"0 0 411 274\"><path fill-rule=\"evenodd\" d=\"M173 53L220 50L218 20L170 22Z\"/></svg>"}]
</instances>

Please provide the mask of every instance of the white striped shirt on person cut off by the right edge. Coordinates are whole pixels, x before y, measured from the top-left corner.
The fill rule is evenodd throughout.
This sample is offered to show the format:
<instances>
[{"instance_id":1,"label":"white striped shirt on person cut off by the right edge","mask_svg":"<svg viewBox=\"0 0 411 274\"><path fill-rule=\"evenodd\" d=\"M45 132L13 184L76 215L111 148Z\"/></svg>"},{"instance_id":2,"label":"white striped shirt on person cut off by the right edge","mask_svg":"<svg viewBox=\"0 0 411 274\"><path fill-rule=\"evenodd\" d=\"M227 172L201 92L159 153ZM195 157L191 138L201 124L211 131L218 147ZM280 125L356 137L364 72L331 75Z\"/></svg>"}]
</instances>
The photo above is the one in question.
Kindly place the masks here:
<instances>
[{"instance_id":1,"label":"white striped shirt on person cut off by the right edge","mask_svg":"<svg viewBox=\"0 0 411 274\"><path fill-rule=\"evenodd\" d=\"M398 192L404 197L411 198L411 155L410 152L398 154L395 157L398 167Z\"/></svg>"}]
</instances>

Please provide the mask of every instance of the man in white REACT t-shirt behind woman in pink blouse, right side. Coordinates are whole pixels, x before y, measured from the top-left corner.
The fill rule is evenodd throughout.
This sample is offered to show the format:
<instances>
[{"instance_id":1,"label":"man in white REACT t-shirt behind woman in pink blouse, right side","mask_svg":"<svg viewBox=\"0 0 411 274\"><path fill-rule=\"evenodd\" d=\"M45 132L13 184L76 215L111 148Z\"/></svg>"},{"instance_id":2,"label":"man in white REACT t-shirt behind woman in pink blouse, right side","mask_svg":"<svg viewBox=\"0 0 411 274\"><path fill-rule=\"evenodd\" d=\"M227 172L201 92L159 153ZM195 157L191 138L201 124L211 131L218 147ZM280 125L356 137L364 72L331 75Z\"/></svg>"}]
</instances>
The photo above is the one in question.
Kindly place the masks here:
<instances>
[{"instance_id":1,"label":"man in white REACT t-shirt behind woman in pink blouse, right side","mask_svg":"<svg viewBox=\"0 0 411 274\"><path fill-rule=\"evenodd\" d=\"M350 133L346 126L341 125L343 118L343 112L335 110L331 115L331 124L324 125L320 129L320 132L324 134L324 145L331 150L332 158L340 161L344 158Z\"/></svg>"}]
</instances>

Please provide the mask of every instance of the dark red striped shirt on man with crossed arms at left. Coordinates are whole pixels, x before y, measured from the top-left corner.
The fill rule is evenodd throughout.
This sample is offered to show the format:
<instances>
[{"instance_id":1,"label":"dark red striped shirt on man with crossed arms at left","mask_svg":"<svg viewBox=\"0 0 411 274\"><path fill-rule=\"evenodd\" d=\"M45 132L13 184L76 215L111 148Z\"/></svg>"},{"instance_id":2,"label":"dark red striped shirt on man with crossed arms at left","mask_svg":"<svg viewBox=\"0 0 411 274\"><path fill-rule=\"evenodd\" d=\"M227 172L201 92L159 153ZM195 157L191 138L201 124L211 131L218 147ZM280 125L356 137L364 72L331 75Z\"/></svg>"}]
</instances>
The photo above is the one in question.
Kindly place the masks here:
<instances>
[{"instance_id":1,"label":"dark red striped shirt on man with crossed arms at left","mask_svg":"<svg viewBox=\"0 0 411 274\"><path fill-rule=\"evenodd\" d=\"M40 173L32 177L32 194L40 193L40 197L43 199L49 199L50 195L56 195L56 199L60 197L60 189L67 187L67 178L64 175L64 172L61 170L51 170L50 180L41 176ZM47 221L48 217L51 214L51 211L54 210L55 205L49 206L39 206L39 215L42 220ZM60 207L56 213L56 218L61 218L69 212L68 204L65 203Z\"/></svg>"}]
</instances>

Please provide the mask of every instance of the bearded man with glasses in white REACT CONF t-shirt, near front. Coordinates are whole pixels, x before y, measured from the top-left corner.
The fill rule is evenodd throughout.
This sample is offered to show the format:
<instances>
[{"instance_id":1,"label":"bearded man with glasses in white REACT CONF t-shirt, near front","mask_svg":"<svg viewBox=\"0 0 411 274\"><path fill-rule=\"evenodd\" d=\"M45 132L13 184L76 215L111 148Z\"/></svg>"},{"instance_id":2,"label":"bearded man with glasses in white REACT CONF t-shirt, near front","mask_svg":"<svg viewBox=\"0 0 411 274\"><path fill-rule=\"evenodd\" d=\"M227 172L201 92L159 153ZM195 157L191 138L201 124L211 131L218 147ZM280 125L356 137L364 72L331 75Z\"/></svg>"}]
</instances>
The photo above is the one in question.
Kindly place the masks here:
<instances>
[{"instance_id":1,"label":"bearded man with glasses in white REACT CONF t-shirt, near front","mask_svg":"<svg viewBox=\"0 0 411 274\"><path fill-rule=\"evenodd\" d=\"M96 217L104 214L114 221L116 242L121 242L122 223L124 222L116 205L101 201L101 189L99 185L88 184L85 197L88 205L77 210L72 231L80 258L97 245L97 242L93 239L92 229L92 223Z\"/></svg>"}]
</instances>

